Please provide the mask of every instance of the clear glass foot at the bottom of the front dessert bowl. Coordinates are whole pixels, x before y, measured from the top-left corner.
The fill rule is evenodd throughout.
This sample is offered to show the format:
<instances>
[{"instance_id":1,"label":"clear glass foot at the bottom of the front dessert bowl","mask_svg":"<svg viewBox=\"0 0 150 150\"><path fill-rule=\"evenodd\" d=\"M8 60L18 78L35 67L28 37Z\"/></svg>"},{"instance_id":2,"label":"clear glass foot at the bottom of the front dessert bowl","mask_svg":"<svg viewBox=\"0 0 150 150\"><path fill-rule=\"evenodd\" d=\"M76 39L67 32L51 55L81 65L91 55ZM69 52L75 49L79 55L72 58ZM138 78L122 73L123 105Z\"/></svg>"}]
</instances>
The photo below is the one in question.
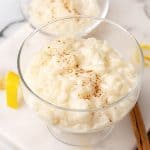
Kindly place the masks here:
<instances>
[{"instance_id":1,"label":"clear glass foot at the bottom of the front dessert bowl","mask_svg":"<svg viewBox=\"0 0 150 150\"><path fill-rule=\"evenodd\" d=\"M48 126L48 130L58 141L72 146L93 146L99 144L111 133L112 128L113 126L92 133L70 133Z\"/></svg>"}]
</instances>

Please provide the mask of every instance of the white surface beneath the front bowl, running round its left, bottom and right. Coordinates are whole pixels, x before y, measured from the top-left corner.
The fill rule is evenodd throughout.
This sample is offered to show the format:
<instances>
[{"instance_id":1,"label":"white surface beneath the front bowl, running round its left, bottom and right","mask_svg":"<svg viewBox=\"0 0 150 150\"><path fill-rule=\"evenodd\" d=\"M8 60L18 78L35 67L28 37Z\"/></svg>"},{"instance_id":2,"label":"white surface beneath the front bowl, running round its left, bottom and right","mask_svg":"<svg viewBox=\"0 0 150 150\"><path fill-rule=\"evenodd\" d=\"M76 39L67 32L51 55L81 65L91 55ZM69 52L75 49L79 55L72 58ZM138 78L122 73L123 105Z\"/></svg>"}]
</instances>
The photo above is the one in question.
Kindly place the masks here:
<instances>
[{"instance_id":1,"label":"white surface beneath the front bowl, running round its left, bottom and right","mask_svg":"<svg viewBox=\"0 0 150 150\"><path fill-rule=\"evenodd\" d=\"M32 30L28 24L24 24L16 34L0 45L0 74L8 70L17 71L16 61L19 47ZM149 76L150 70L146 69L139 99L147 129L150 127ZM132 150L135 145L135 137L127 116L114 127L112 133L98 146L89 147L86 150ZM0 149L83 150L85 148L71 147L58 142L49 133L46 124L25 104L18 110L8 108L5 104L5 94L0 92Z\"/></svg>"}]
</instances>

